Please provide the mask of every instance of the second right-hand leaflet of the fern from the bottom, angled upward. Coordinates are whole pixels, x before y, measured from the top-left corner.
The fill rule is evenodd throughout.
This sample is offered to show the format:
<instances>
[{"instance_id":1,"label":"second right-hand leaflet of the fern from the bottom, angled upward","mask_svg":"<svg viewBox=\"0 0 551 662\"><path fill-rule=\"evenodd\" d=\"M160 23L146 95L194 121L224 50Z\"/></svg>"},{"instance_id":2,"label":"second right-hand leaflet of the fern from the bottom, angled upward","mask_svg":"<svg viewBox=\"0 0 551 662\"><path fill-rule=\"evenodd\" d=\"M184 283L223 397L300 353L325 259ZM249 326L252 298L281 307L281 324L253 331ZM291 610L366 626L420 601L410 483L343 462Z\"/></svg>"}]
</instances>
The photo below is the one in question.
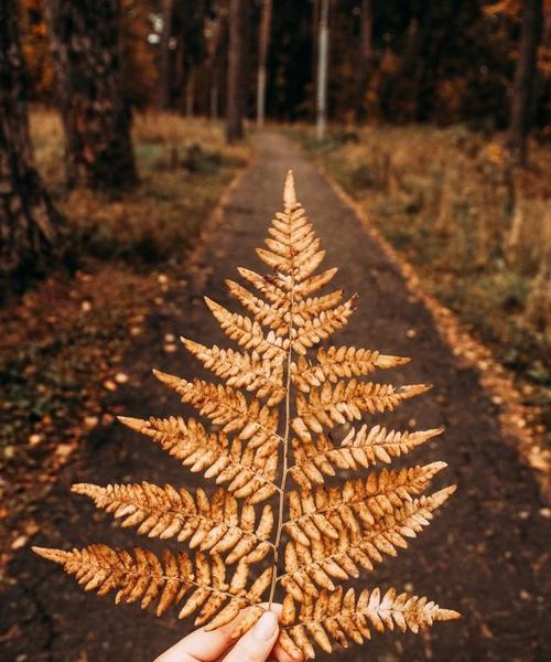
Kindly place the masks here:
<instances>
[{"instance_id":1,"label":"second right-hand leaflet of the fern from the bottom, angled upward","mask_svg":"<svg viewBox=\"0 0 551 662\"><path fill-rule=\"evenodd\" d=\"M312 540L309 546L289 542L282 586L302 601L305 596L317 596L320 588L335 590L333 579L357 578L360 568L372 570L383 555L396 556L399 548L407 548L407 538L417 537L429 525L433 511L454 491L455 485L451 485L429 496L404 501L399 510L392 509L363 530L338 527L336 540L324 535Z\"/></svg>"}]
</instances>

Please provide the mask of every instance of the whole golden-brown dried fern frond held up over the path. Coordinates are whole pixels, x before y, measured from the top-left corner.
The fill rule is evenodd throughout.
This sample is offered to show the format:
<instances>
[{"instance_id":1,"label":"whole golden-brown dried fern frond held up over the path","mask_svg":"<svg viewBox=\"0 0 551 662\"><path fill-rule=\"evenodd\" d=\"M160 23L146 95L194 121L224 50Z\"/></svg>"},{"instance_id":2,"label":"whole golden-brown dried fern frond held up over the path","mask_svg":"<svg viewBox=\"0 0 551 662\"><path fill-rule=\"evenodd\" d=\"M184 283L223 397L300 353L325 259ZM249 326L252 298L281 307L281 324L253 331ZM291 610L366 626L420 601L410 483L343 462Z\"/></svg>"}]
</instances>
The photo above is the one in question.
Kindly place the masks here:
<instances>
[{"instance_id":1,"label":"whole golden-brown dried fern frond held up over the path","mask_svg":"<svg viewBox=\"0 0 551 662\"><path fill-rule=\"evenodd\" d=\"M179 606L180 618L198 611L195 623L207 629L236 619L234 637L263 613L267 591L270 606L281 591L280 643L293 656L314 656L314 645L331 652L335 643L361 643L371 630L396 626L417 632L457 618L455 611L393 588L382 597L375 588L356 598L342 585L408 547L455 487L425 494L445 462L371 470L413 451L442 429L350 427L428 391L425 384L396 387L363 380L409 359L346 345L322 345L348 323L357 297L345 300L341 289L320 293L337 270L317 271L325 252L296 202L291 172L283 212L276 214L269 235L266 248L257 253L272 273L262 276L239 267L248 287L226 281L247 314L205 298L239 348L182 339L224 383L154 373L209 420L213 431L180 416L120 419L192 472L224 487L213 492L148 482L73 487L123 527L187 543L196 549L194 558L185 552L164 551L159 558L139 547L106 545L35 552L63 565L87 590L117 590L117 602L139 600L142 608L156 604L158 615ZM338 470L360 476L326 484ZM289 489L291 478L299 489ZM276 511L266 503L256 508L270 498L277 501ZM250 583L252 564L268 554L272 563Z\"/></svg>"}]
</instances>

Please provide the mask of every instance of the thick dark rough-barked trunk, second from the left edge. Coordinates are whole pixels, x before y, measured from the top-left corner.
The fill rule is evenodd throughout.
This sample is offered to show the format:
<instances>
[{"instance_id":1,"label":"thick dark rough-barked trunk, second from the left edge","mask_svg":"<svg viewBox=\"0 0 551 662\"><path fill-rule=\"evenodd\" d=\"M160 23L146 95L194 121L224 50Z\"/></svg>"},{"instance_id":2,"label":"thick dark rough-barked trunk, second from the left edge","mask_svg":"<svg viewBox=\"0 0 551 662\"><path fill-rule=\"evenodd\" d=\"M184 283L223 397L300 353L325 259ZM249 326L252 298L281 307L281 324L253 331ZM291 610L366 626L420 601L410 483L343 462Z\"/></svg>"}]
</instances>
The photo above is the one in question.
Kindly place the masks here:
<instances>
[{"instance_id":1,"label":"thick dark rough-barked trunk, second from the left edge","mask_svg":"<svg viewBox=\"0 0 551 662\"><path fill-rule=\"evenodd\" d=\"M137 183L130 110L120 95L118 0L46 0L65 129L67 183Z\"/></svg>"}]
</instances>

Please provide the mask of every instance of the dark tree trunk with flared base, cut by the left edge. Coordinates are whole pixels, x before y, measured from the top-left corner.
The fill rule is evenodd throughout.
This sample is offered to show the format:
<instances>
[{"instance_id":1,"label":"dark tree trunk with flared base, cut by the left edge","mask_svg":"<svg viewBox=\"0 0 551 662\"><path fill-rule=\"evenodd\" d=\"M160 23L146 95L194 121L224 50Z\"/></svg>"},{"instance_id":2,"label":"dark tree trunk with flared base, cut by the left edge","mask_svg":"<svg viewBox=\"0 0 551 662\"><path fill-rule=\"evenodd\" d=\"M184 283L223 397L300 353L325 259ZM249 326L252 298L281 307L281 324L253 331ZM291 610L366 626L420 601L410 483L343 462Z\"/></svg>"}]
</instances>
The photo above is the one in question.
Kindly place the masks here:
<instances>
[{"instance_id":1,"label":"dark tree trunk with flared base, cut by the left edge","mask_svg":"<svg viewBox=\"0 0 551 662\"><path fill-rule=\"evenodd\" d=\"M0 2L0 291L61 253L60 216L34 168L15 0Z\"/></svg>"}]
</instances>

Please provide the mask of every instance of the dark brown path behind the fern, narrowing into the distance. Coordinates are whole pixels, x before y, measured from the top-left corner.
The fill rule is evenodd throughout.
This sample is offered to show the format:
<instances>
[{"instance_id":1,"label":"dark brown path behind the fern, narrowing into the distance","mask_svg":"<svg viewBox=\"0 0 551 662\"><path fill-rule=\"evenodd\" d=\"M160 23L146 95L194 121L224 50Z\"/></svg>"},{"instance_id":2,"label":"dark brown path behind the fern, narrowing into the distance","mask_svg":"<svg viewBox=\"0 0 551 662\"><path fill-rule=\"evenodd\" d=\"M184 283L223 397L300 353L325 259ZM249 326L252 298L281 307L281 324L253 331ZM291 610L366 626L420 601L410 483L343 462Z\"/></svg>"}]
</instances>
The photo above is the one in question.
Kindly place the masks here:
<instances>
[{"instance_id":1,"label":"dark brown path behind the fern, narrowing into the distance","mask_svg":"<svg viewBox=\"0 0 551 662\"><path fill-rule=\"evenodd\" d=\"M327 248L326 265L338 266L338 284L347 292L360 295L359 310L338 340L414 357L391 378L429 382L435 387L399 408L392 421L396 427L419 428L444 424L447 433L418 452L413 461L444 459L450 468L443 482L460 487L410 549L364 579L366 585L392 583L428 594L441 605L461 610L464 618L435 627L423 637L376 636L365 648L352 648L333 659L551 660L544 633L549 626L545 600L550 594L544 584L545 570L549 581L549 513L539 502L530 471L517 460L515 442L500 437L496 408L480 389L477 374L457 367L428 312L411 300L395 268L314 166L279 135L259 136L256 146L257 161L234 191L224 223L187 286L174 288L165 305L152 313L148 333L128 357L126 372L131 382L110 396L112 410L144 417L182 410L177 398L150 376L150 367L185 376L199 371L184 351L163 351L164 334L184 334L206 344L220 342L220 332L201 296L208 292L234 306L224 278L235 277L237 265L259 266L252 248L261 245L271 214L280 209L284 172L292 167L300 200ZM87 501L71 495L68 488L78 481L139 480L195 483L190 472L147 439L118 425L96 429L40 505L36 519L42 532L33 543L62 547L90 542L136 544L131 531L114 528ZM12 580L0 596L2 660L151 662L188 627L88 596L28 548L18 554L10 573Z\"/></svg>"}]
</instances>

